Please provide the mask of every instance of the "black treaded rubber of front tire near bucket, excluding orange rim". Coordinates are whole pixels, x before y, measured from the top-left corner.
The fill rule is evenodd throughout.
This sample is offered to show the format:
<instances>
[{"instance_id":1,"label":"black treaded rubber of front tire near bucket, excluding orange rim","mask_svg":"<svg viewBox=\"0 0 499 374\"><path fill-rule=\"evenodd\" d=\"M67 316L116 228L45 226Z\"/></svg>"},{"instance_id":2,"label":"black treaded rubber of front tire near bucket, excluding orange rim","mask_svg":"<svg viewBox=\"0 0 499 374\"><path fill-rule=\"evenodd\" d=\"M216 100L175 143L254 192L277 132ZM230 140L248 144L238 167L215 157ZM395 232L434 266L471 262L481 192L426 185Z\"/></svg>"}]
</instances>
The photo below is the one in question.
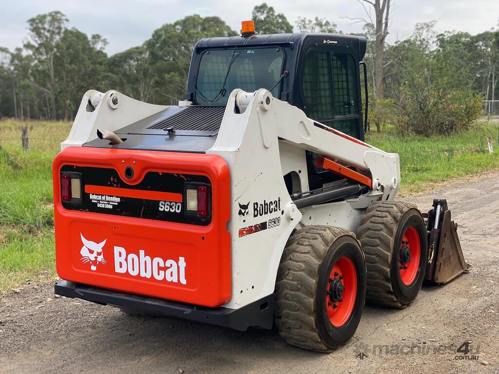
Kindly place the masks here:
<instances>
[{"instance_id":1,"label":"black treaded rubber of front tire near bucket, excluding orange rim","mask_svg":"<svg viewBox=\"0 0 499 374\"><path fill-rule=\"evenodd\" d=\"M407 217L410 216L418 228L421 239L422 270L417 275L411 289L400 287L400 274L394 269L398 261L394 259L395 241ZM424 278L425 258L428 256L428 242L423 216L416 204L403 201L376 202L366 209L357 238L360 241L366 260L367 292L366 301L394 308L405 308L418 294ZM422 273L421 273L422 272ZM406 292L408 295L403 295Z\"/></svg>"}]
</instances>

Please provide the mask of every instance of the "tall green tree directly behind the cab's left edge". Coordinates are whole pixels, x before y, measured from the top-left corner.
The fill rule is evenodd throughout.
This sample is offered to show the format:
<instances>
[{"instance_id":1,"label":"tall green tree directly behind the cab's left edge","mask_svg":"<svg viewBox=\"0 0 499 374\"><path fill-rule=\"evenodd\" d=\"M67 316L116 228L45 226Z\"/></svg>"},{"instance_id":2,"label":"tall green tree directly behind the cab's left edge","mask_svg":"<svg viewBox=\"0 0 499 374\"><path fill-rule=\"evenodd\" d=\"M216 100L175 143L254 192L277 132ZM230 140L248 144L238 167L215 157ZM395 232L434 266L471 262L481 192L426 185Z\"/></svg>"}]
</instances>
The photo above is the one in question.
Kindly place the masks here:
<instances>
[{"instance_id":1,"label":"tall green tree directly behind the cab's left edge","mask_svg":"<svg viewBox=\"0 0 499 374\"><path fill-rule=\"evenodd\" d=\"M184 98L189 65L198 40L237 34L219 17L203 18L197 14L154 30L145 45L155 75L156 102L164 103L167 98L176 104Z\"/></svg>"}]
</instances>

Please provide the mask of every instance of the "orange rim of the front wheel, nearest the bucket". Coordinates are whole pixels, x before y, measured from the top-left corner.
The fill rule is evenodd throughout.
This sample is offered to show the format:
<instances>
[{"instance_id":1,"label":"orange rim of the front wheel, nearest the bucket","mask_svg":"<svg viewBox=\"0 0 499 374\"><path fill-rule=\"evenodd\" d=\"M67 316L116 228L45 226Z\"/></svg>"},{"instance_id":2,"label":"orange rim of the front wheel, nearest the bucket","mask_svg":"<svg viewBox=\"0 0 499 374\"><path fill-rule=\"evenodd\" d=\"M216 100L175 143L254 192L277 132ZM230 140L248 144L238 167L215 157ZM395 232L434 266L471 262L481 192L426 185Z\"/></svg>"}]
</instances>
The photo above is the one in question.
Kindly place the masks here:
<instances>
[{"instance_id":1,"label":"orange rim of the front wheel, nearest the bucket","mask_svg":"<svg viewBox=\"0 0 499 374\"><path fill-rule=\"evenodd\" d=\"M415 226L409 226L400 243L399 272L402 283L410 286L418 275L421 260L421 241Z\"/></svg>"}]
</instances>

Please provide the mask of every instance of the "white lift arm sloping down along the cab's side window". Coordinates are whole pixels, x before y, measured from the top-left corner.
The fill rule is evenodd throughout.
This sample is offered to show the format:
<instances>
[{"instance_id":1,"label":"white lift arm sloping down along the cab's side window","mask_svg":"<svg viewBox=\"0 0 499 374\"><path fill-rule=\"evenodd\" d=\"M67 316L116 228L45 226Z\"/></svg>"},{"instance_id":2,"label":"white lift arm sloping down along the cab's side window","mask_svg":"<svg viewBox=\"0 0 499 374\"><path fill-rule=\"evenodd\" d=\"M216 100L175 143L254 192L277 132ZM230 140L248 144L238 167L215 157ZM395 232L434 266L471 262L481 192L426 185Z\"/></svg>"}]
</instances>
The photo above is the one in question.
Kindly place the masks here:
<instances>
[{"instance_id":1,"label":"white lift arm sloping down along the cab's side window","mask_svg":"<svg viewBox=\"0 0 499 374\"><path fill-rule=\"evenodd\" d=\"M238 111L240 113L237 113ZM381 192L383 200L393 199L399 190L398 154L384 152L315 122L307 118L302 110L272 97L265 89L254 93L242 90L232 92L216 146L221 147L224 143L229 146L228 143L238 142L238 138L244 134L245 124L252 121L255 121L255 125L260 129L264 147L268 148L276 135L278 139L292 146L369 171L369 187L372 193ZM365 184L368 180L369 178L358 182Z\"/></svg>"}]
</instances>

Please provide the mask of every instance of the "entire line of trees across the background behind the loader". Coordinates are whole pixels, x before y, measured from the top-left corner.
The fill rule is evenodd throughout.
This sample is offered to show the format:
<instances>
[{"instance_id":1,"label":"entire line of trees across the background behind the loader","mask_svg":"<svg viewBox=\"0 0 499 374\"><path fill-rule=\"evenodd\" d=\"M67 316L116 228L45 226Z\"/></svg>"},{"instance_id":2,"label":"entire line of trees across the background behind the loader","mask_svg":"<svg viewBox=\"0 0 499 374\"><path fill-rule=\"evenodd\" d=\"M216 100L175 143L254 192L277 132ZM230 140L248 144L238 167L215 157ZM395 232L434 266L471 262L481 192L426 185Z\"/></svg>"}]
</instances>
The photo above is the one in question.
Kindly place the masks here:
<instances>
[{"instance_id":1,"label":"entire line of trees across the background behind the loader","mask_svg":"<svg viewBox=\"0 0 499 374\"><path fill-rule=\"evenodd\" d=\"M372 130L393 124L424 135L459 131L482 113L481 100L497 99L498 28L477 35L436 33L432 21L416 24L410 36L389 44L390 0L359 2L367 17L352 20L364 23L360 35L368 39L364 60ZM342 33L334 22L320 17L298 17L293 27L266 3L253 8L252 19L260 34ZM0 117L70 120L90 88L176 104L185 98L196 42L239 34L220 17L194 14L164 24L140 46L108 56L105 37L69 27L59 11L37 15L27 24L22 46L0 47Z\"/></svg>"}]
</instances>

